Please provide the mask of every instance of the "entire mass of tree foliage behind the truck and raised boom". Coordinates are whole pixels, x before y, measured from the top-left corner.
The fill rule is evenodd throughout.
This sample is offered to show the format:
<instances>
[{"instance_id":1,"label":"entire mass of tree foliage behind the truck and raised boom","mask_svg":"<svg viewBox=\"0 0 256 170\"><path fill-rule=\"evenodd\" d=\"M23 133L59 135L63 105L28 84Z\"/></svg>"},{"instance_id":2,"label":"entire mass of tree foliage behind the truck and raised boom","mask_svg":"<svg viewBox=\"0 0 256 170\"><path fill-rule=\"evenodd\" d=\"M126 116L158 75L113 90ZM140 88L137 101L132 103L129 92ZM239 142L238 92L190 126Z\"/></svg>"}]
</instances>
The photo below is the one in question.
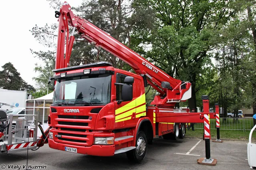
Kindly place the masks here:
<instances>
[{"instance_id":1,"label":"entire mass of tree foliage behind the truck and raised boom","mask_svg":"<svg viewBox=\"0 0 256 170\"><path fill-rule=\"evenodd\" d=\"M58 0L50 0L56 10ZM192 97L181 104L202 107L220 103L227 111L255 106L256 29L255 1L249 0L88 0L73 12L89 20L172 77L192 83ZM55 65L57 23L35 26L32 35L49 51L32 51L46 65L36 65L34 77L46 91ZM255 33L255 34L254 34ZM75 35L71 66L109 61L114 67L131 67ZM134 72L134 71L133 71ZM49 88L52 90L53 86ZM155 90L146 88L147 103Z\"/></svg>"}]
</instances>

